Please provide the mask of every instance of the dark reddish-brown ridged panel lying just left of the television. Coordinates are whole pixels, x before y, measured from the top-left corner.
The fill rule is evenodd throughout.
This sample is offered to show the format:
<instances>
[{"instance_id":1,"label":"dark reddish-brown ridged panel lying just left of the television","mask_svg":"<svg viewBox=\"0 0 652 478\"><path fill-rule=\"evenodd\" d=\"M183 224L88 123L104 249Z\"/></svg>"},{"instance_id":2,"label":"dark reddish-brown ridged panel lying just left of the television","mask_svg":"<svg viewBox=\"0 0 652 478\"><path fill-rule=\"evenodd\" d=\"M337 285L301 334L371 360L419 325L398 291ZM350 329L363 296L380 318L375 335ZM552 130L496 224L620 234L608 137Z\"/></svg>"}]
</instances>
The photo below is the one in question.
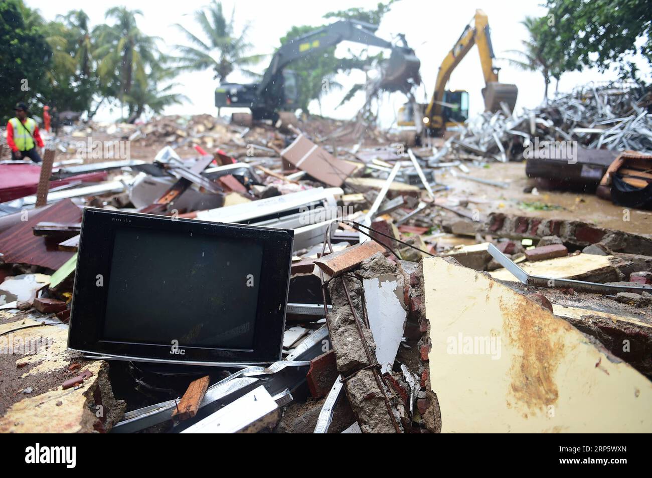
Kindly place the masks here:
<instances>
[{"instance_id":1,"label":"dark reddish-brown ridged panel lying just left of the television","mask_svg":"<svg viewBox=\"0 0 652 478\"><path fill-rule=\"evenodd\" d=\"M28 212L28 220L0 234L0 252L5 263L25 263L57 270L74 254L59 250L57 240L34 235L32 230L41 221L81 222L82 209L71 200L62 200L44 211Z\"/></svg>"}]
</instances>

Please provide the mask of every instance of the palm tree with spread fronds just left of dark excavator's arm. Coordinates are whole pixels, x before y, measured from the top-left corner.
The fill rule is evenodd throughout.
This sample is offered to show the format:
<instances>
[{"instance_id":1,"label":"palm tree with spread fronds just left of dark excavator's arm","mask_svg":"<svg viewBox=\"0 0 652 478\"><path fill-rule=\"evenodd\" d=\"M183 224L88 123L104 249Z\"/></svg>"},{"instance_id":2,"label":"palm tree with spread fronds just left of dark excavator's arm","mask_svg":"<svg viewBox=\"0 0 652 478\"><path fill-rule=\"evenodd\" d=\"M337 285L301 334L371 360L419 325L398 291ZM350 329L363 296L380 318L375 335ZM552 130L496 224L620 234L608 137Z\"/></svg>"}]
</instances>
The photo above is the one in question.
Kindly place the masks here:
<instances>
[{"instance_id":1,"label":"palm tree with spread fronds just left of dark excavator's arm","mask_svg":"<svg viewBox=\"0 0 652 478\"><path fill-rule=\"evenodd\" d=\"M180 53L179 57L175 57L178 72L212 68L215 79L220 82L226 80L235 68L257 76L244 67L258 63L265 55L244 55L251 48L246 41L249 25L244 25L240 35L235 34L235 7L230 20L227 20L222 12L222 3L213 0L205 10L196 11L194 18L205 38L197 37L179 23L175 25L193 45L176 46Z\"/></svg>"}]
</instances>

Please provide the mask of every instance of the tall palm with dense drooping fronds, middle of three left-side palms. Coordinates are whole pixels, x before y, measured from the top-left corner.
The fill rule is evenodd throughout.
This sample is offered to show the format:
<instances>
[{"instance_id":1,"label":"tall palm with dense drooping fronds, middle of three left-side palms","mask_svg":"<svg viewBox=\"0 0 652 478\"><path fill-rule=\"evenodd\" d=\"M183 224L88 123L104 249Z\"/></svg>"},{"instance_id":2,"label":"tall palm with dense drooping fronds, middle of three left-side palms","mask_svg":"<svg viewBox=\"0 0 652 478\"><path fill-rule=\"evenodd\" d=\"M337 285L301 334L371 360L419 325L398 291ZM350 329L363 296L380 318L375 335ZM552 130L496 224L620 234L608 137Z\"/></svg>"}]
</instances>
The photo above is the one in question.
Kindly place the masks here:
<instances>
[{"instance_id":1,"label":"tall palm with dense drooping fronds, middle of three left-side palms","mask_svg":"<svg viewBox=\"0 0 652 478\"><path fill-rule=\"evenodd\" d=\"M144 35L136 24L140 10L113 7L106 11L106 18L114 18L115 25L98 25L93 30L97 38L92 55L98 61L97 74L100 83L113 91L124 102L134 85L147 85L147 67L156 65L158 37Z\"/></svg>"}]
</instances>

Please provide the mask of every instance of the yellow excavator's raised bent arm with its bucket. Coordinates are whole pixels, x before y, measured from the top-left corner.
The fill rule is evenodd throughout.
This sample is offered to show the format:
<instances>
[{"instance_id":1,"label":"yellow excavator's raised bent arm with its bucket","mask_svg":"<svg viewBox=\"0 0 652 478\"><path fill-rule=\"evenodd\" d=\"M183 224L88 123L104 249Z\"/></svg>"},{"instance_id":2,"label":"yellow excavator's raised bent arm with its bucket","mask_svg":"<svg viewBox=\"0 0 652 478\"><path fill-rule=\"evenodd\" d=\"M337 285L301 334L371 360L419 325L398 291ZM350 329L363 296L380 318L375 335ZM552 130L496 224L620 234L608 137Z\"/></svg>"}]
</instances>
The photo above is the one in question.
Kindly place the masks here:
<instances>
[{"instance_id":1,"label":"yellow excavator's raised bent arm with its bucket","mask_svg":"<svg viewBox=\"0 0 652 478\"><path fill-rule=\"evenodd\" d=\"M446 55L439 67L435 90L426 106L424 117L428 127L432 129L442 128L445 123L443 118L443 107L445 104L446 84L451 78L452 71L464 59L466 53L477 45L484 76L485 88L482 90L484 106L488 111L496 111L500 108L500 102L507 102L510 109L514 108L518 91L515 85L498 83L498 70L494 67L494 49L489 33L489 22L482 10L475 10L475 25L466 25L464 32L457 40L452 50ZM425 121L425 120L424 120Z\"/></svg>"}]
</instances>

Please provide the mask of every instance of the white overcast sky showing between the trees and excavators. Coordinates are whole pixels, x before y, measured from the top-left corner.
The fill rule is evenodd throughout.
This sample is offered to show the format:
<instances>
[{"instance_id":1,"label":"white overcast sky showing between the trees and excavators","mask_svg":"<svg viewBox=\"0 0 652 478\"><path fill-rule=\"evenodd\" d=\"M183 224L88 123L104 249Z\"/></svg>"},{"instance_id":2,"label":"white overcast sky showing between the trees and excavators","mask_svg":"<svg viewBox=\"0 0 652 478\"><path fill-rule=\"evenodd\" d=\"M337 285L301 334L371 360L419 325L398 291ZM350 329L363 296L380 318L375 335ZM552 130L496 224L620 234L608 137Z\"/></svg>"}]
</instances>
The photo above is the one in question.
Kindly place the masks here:
<instances>
[{"instance_id":1,"label":"white overcast sky showing between the trees and excavators","mask_svg":"<svg viewBox=\"0 0 652 478\"><path fill-rule=\"evenodd\" d=\"M124 2L95 0L25 0L31 8L38 8L46 20L53 20L57 14L65 14L68 10L83 9L91 18L91 24L104 23L104 13L110 7L124 5ZM151 1L130 0L128 8L141 10L143 16L138 17L138 25L147 35L161 37L160 48L172 53L175 44L187 44L185 37L175 27L174 23L182 23L191 31L199 31L193 20L193 12L207 5L207 0L183 1ZM230 14L232 0L224 0L224 11ZM246 22L250 23L248 40L253 45L251 53L273 53L279 46L278 39L286 34L293 25L321 25L332 20L323 19L323 14L334 10L344 10L350 7L374 8L378 0L330 0L327 2L295 1L295 0L239 0L235 7L236 29ZM404 33L409 46L413 48L421 60L421 76L424 85L419 88L418 98L430 98L437 70L442 59L451 50L454 42L460 37L464 26L469 23L476 8L482 8L488 15L491 27L492 42L496 57L509 56L507 50L519 50L521 41L527 38L525 27L520 24L525 16L542 16L546 9L540 7L542 0L456 0L443 2L437 0L400 0L392 10L385 15L380 28L376 32L381 38L393 40L398 33ZM194 29L194 30L193 30ZM350 42L342 42L336 55L342 57L351 48L358 51L361 48ZM379 50L370 48L370 53ZM389 53L389 52L388 52ZM269 57L271 58L271 57ZM650 68L642 61L636 61L649 81ZM252 70L263 72L269 59L261 62ZM511 67L506 61L497 61L501 67L499 80L504 83L516 83L518 86L518 102L516 109L537 106L543 98L544 82L541 74L523 72ZM564 74L559 83L560 91L569 91L575 85L587 82L602 82L615 79L615 74L600 74L596 71L572 72ZM230 82L250 82L239 74L231 74ZM340 100L355 83L364 82L362 72L352 72L350 75L340 74L336 78L342 83L342 90L332 91L322 101L322 112L329 117L350 119L361 108L364 102L363 93L359 93L351 102L336 109ZM180 93L190 98L190 103L183 106L172 106L166 113L216 113L213 92L216 81L213 72L203 71L180 75L177 82L183 87ZM452 73L449 82L451 89L466 89L469 91L471 114L479 113L484 108L481 89L484 86L482 70L477 49L471 50L466 58ZM551 95L554 92L554 81L550 86ZM400 93L385 95L380 110L381 124L385 127L394 120L394 111L404 103L405 97ZM311 112L318 113L318 106L310 105ZM222 111L224 114L224 110ZM108 109L100 110L96 119L115 119L117 112Z\"/></svg>"}]
</instances>

